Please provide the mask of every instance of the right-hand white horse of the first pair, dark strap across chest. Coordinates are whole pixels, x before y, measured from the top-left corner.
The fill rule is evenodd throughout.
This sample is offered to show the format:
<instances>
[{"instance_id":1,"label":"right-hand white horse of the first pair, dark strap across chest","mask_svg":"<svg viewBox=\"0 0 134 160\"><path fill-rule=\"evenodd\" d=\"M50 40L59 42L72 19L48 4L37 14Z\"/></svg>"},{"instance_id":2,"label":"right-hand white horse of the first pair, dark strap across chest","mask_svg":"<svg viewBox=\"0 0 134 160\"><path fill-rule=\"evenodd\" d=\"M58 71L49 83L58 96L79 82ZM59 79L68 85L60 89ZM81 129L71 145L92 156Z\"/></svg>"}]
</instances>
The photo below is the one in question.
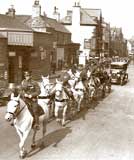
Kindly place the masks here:
<instances>
[{"instance_id":1,"label":"right-hand white horse of the first pair, dark strap across chest","mask_svg":"<svg viewBox=\"0 0 134 160\"><path fill-rule=\"evenodd\" d=\"M55 87L51 90L51 94L55 94L55 109L54 115L57 122L61 122L62 126L65 126L66 123L66 115L68 108L68 99L63 82L56 79ZM62 118L59 117L59 111L62 110Z\"/></svg>"}]
</instances>

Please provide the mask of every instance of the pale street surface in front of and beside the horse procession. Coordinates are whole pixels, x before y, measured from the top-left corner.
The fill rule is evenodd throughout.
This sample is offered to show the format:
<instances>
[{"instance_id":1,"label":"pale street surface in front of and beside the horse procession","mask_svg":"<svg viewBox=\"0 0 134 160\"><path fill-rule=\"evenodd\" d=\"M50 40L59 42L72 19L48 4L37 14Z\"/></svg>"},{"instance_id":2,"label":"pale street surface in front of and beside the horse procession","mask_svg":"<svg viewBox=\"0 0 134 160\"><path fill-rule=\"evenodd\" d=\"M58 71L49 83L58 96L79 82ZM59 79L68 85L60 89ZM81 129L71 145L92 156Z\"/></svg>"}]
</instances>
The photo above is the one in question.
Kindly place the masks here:
<instances>
[{"instance_id":1,"label":"pale street surface in front of and beside the horse procession","mask_svg":"<svg viewBox=\"0 0 134 160\"><path fill-rule=\"evenodd\" d=\"M112 92L94 107L83 110L65 127L47 125L45 147L31 150L32 131L26 143L26 160L134 160L134 65L129 82L112 85ZM19 137L5 122L0 108L0 160L19 159ZM37 136L40 142L41 133Z\"/></svg>"}]
</instances>

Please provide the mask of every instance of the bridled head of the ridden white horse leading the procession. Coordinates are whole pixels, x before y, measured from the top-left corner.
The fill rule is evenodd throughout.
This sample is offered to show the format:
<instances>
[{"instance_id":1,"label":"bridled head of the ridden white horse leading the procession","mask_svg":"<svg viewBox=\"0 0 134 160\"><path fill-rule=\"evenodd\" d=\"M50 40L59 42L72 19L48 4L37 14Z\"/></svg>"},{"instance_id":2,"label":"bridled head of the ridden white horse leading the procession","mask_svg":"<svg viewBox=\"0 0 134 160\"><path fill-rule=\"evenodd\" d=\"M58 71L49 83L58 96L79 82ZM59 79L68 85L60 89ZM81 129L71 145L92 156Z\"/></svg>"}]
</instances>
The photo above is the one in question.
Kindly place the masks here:
<instances>
[{"instance_id":1,"label":"bridled head of the ridden white horse leading the procession","mask_svg":"<svg viewBox=\"0 0 134 160\"><path fill-rule=\"evenodd\" d=\"M11 99L7 104L7 111L5 115L5 119L7 121L11 121L16 118L18 110L20 110L20 95L15 96L14 93L11 94Z\"/></svg>"}]
</instances>

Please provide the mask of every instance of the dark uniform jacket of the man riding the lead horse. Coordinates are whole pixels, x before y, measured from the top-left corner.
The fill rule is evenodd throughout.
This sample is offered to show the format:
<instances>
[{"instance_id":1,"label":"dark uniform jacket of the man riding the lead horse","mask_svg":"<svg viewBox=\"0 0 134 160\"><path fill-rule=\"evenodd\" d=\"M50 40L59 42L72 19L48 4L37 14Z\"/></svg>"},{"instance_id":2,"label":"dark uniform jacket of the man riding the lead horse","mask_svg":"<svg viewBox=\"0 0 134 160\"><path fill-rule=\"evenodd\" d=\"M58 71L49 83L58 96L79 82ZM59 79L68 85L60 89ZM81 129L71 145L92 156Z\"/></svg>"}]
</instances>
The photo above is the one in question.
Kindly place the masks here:
<instances>
[{"instance_id":1,"label":"dark uniform jacket of the man riding the lead horse","mask_svg":"<svg viewBox=\"0 0 134 160\"><path fill-rule=\"evenodd\" d=\"M32 98L37 98L37 96L40 94L40 88L36 81L29 79L24 79L21 83L23 95L28 94L31 95Z\"/></svg>"}]
</instances>

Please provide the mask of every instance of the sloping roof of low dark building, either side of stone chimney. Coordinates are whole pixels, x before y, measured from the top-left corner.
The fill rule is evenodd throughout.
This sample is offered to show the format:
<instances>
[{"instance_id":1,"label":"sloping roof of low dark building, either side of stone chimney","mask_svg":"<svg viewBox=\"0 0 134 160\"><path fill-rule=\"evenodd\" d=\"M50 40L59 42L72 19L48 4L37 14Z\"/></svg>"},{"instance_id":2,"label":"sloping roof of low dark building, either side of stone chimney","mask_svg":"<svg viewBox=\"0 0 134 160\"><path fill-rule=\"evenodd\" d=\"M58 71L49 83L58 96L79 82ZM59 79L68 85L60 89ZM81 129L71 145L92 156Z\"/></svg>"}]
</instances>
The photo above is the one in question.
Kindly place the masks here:
<instances>
[{"instance_id":1,"label":"sloping roof of low dark building, either side of stone chimney","mask_svg":"<svg viewBox=\"0 0 134 160\"><path fill-rule=\"evenodd\" d=\"M16 15L17 19L19 19L21 22L25 23L26 25L28 25L29 27L32 26L32 17L30 15ZM36 21L36 19L38 19L38 23ZM50 27L50 28L54 28L56 31L60 31L60 32L64 32L64 33L70 33L65 27L64 25L62 25L60 22L58 22L56 19L52 19L46 16L40 16L38 18L34 18L34 20L36 21L35 25L36 27L41 27L41 28L45 28L45 27Z\"/></svg>"}]
</instances>

